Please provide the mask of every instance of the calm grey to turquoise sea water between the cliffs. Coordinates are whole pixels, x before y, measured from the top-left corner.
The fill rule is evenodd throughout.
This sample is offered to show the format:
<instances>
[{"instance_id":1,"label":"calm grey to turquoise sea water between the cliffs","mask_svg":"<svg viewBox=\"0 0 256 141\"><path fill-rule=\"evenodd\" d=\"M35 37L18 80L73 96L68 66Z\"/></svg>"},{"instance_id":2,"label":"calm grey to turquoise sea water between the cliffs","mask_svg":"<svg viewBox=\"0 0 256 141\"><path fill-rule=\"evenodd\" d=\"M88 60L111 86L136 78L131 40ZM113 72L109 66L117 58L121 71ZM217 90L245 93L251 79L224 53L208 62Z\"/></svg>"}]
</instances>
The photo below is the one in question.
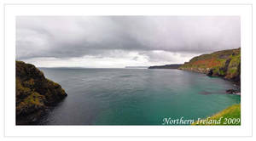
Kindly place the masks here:
<instances>
[{"instance_id":1,"label":"calm grey to turquoise sea water between the cliffs","mask_svg":"<svg viewBox=\"0 0 256 141\"><path fill-rule=\"evenodd\" d=\"M165 117L212 116L240 96L233 83L204 74L148 69L46 69L68 96L39 124L161 125Z\"/></svg>"}]
</instances>

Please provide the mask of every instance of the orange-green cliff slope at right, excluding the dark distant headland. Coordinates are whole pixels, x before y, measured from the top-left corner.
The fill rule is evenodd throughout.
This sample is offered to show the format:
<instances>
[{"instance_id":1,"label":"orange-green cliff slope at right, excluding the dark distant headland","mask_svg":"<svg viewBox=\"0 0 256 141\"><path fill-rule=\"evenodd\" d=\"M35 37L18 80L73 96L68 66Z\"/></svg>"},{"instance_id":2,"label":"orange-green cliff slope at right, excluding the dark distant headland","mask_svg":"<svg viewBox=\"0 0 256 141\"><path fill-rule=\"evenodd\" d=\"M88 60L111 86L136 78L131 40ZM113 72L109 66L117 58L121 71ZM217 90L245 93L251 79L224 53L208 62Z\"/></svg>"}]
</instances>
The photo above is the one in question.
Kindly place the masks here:
<instances>
[{"instance_id":1,"label":"orange-green cliff slope at right, excluding the dark distant headland","mask_svg":"<svg viewBox=\"0 0 256 141\"><path fill-rule=\"evenodd\" d=\"M178 69L206 73L207 76L221 76L235 82L240 82L241 48L218 51L212 54L202 54Z\"/></svg>"}]
</instances>

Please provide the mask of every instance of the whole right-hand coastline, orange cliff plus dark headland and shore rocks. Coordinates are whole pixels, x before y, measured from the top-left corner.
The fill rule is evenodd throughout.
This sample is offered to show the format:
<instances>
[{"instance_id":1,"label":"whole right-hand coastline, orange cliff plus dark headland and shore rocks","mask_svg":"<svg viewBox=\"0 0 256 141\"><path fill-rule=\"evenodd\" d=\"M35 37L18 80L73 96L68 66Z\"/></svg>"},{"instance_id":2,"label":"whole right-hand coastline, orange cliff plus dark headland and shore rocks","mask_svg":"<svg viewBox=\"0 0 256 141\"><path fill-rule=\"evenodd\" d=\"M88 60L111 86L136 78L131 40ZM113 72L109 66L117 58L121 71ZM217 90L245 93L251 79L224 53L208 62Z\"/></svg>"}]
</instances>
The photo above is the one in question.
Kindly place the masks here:
<instances>
[{"instance_id":1,"label":"whole right-hand coastline, orange cliff plus dark headland and shore rocks","mask_svg":"<svg viewBox=\"0 0 256 141\"><path fill-rule=\"evenodd\" d=\"M169 66L169 67L167 67ZM201 54L183 65L154 65L148 69L177 69L219 77L233 82L236 88L227 89L226 93L241 95L241 48L221 50L211 54Z\"/></svg>"}]
</instances>

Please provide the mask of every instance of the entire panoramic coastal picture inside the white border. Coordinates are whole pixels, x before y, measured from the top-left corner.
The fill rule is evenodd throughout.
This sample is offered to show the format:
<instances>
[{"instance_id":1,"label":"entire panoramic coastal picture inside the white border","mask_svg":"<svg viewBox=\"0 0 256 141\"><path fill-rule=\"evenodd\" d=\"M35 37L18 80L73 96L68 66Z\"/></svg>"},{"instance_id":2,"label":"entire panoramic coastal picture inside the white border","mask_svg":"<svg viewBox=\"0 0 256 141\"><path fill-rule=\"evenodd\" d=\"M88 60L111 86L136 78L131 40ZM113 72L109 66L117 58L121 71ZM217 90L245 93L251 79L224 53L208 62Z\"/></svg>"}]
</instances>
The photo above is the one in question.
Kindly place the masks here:
<instances>
[{"instance_id":1,"label":"entire panoramic coastal picture inside the white border","mask_svg":"<svg viewBox=\"0 0 256 141\"><path fill-rule=\"evenodd\" d=\"M16 16L16 125L241 126L239 16Z\"/></svg>"}]
</instances>

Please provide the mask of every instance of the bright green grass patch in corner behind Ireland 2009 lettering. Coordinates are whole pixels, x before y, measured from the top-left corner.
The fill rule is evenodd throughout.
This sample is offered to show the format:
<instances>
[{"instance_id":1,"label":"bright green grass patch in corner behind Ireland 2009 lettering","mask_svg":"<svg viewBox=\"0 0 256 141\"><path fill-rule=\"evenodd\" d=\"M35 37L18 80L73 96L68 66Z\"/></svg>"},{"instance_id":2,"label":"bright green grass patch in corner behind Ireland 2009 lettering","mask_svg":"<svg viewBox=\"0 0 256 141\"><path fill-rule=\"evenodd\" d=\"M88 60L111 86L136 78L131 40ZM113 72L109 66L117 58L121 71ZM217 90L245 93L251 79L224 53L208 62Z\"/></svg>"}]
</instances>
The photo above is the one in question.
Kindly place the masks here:
<instances>
[{"instance_id":1,"label":"bright green grass patch in corner behind Ireland 2009 lettering","mask_svg":"<svg viewBox=\"0 0 256 141\"><path fill-rule=\"evenodd\" d=\"M217 114L195 121L192 125L222 125L222 126L237 126L241 125L241 104L234 104L224 109Z\"/></svg>"}]
</instances>

